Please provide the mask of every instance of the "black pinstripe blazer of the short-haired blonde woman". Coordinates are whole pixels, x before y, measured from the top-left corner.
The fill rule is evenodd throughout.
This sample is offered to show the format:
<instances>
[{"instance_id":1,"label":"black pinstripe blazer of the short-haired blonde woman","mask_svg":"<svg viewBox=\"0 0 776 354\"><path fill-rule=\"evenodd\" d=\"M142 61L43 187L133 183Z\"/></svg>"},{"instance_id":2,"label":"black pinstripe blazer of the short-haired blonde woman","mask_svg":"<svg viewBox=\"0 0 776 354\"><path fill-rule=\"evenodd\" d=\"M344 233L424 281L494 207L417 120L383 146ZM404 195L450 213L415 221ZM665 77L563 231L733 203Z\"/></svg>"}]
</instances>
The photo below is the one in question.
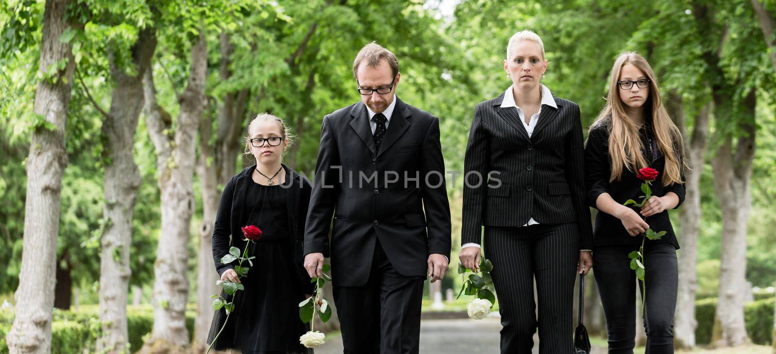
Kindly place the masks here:
<instances>
[{"instance_id":1,"label":"black pinstripe blazer of the short-haired blonde woman","mask_svg":"<svg viewBox=\"0 0 776 354\"><path fill-rule=\"evenodd\" d=\"M501 107L504 93L474 109L463 163L462 244L481 243L481 226L518 227L533 217L539 224L577 222L580 249L592 249L580 109L553 99L558 108L542 106L531 137L518 110Z\"/></svg>"}]
</instances>

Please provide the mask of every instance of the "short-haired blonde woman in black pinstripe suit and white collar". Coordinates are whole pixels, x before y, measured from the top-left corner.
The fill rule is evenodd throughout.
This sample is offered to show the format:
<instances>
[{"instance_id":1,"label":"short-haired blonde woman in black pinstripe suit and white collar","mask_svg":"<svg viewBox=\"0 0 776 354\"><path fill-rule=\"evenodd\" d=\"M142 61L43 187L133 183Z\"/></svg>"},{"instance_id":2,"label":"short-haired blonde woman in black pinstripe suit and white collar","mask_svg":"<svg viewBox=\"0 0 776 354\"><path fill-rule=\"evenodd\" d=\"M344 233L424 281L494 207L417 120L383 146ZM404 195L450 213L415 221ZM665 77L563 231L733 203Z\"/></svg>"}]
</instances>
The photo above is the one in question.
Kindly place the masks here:
<instances>
[{"instance_id":1,"label":"short-haired blonde woman in black pinstripe suit and white collar","mask_svg":"<svg viewBox=\"0 0 776 354\"><path fill-rule=\"evenodd\" d=\"M535 33L511 37L504 69L512 85L476 106L466 146L460 259L479 267L484 226L502 353L530 353L537 327L539 352L573 352L574 270L593 266L580 109L539 83L547 63Z\"/></svg>"}]
</instances>

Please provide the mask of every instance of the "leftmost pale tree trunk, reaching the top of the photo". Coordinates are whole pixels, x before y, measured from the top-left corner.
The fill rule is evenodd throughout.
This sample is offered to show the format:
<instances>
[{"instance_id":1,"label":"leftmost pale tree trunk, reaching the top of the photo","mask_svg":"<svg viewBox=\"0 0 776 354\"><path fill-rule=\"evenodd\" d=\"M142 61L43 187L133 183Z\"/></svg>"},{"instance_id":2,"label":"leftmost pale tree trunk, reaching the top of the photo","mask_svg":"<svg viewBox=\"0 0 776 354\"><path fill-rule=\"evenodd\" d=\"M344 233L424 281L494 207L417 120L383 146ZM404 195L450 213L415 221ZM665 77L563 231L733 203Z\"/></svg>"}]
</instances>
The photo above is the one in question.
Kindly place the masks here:
<instances>
[{"instance_id":1,"label":"leftmost pale tree trunk, reaching the top of the photo","mask_svg":"<svg viewBox=\"0 0 776 354\"><path fill-rule=\"evenodd\" d=\"M16 290L16 318L5 338L9 352L51 352L51 314L59 232L62 174L68 165L64 127L75 70L72 43L65 30L80 24L66 19L68 0L47 0L43 12L39 73L64 61L64 68L38 82L34 112L45 120L33 129L27 156L22 269Z\"/></svg>"}]
</instances>

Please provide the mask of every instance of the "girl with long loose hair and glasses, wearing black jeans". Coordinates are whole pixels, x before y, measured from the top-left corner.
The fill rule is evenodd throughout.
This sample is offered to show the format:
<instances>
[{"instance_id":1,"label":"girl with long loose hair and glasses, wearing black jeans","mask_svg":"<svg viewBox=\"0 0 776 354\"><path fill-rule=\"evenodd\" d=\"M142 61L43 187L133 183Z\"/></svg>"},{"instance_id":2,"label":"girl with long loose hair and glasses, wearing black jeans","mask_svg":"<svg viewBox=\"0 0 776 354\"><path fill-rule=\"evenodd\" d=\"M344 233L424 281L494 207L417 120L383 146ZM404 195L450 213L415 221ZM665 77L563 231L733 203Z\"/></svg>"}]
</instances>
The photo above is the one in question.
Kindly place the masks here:
<instances>
[{"instance_id":1,"label":"girl with long loose hair and glasses, wearing black jeans","mask_svg":"<svg viewBox=\"0 0 776 354\"><path fill-rule=\"evenodd\" d=\"M647 228L666 234L644 245L646 352L674 352L679 244L667 210L684 200L683 151L680 131L663 107L650 64L639 54L621 54L611 69L606 106L591 126L585 147L588 201L600 210L593 262L609 353L633 352L636 275L628 255L639 250ZM651 186L653 196L640 209L624 206L626 200L641 200L642 181L636 174L645 167L660 172Z\"/></svg>"}]
</instances>

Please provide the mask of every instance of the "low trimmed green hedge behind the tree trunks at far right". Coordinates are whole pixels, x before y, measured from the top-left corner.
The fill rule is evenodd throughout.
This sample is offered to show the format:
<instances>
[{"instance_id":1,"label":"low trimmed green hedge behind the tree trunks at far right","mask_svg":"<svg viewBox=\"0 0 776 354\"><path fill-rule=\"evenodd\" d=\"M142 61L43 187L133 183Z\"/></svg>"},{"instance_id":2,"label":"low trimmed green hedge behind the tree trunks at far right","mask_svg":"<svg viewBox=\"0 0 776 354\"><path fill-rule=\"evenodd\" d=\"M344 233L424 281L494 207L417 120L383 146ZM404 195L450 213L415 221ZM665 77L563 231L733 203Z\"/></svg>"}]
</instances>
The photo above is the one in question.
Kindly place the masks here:
<instances>
[{"instance_id":1,"label":"low trimmed green hedge behind the tree trunks at far right","mask_svg":"<svg viewBox=\"0 0 776 354\"><path fill-rule=\"evenodd\" d=\"M704 299L695 302L695 342L699 345L712 342L714 314L717 299ZM755 344L770 345L774 331L774 298L752 301L744 305L743 318L746 321L747 334Z\"/></svg>"}]
</instances>

